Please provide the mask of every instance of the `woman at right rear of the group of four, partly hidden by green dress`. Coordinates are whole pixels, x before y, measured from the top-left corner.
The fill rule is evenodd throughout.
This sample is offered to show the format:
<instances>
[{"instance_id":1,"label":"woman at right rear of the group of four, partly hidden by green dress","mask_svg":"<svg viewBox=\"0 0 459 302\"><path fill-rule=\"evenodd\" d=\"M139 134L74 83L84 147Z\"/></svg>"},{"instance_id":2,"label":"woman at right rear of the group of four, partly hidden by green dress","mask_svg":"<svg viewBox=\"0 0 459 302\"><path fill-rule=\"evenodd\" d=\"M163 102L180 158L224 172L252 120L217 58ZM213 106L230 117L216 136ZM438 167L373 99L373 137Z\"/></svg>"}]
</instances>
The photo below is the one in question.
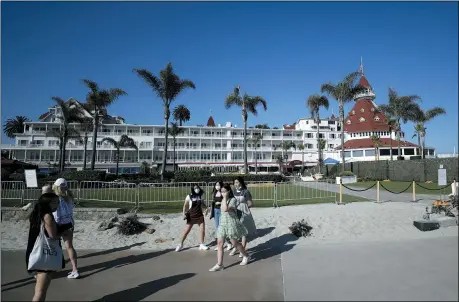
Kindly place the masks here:
<instances>
[{"instance_id":1,"label":"woman at right rear of the group of four, partly hidden by green dress","mask_svg":"<svg viewBox=\"0 0 459 302\"><path fill-rule=\"evenodd\" d=\"M247 235L242 237L241 242L245 249L247 247L248 237L253 237L257 234L257 227L253 220L252 212L250 211L250 208L253 206L252 194L250 194L244 179L240 176L236 177L234 180L234 187L236 188L234 197L237 200L238 218L247 229ZM234 256L236 252L237 250L233 248L230 252L230 256ZM239 257L242 257L242 255L239 255Z\"/></svg>"}]
</instances>

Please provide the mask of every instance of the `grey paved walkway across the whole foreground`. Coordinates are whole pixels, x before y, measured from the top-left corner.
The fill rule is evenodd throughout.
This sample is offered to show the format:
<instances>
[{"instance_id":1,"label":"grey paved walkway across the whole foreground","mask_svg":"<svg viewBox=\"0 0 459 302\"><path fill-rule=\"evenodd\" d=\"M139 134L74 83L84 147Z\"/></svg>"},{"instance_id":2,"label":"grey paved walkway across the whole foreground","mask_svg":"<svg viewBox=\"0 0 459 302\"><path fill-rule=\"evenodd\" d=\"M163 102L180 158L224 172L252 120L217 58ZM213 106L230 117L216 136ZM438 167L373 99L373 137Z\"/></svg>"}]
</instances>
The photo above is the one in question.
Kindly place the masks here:
<instances>
[{"instance_id":1,"label":"grey paved walkway across the whole foreground","mask_svg":"<svg viewBox=\"0 0 459 302\"><path fill-rule=\"evenodd\" d=\"M246 267L210 273L216 252L81 252L80 280L57 274L47 300L292 301L458 299L457 236L384 243L295 245L281 236ZM303 240L303 239L301 239ZM307 240L307 239L304 239ZM24 252L2 251L2 301L30 301Z\"/></svg>"}]
</instances>

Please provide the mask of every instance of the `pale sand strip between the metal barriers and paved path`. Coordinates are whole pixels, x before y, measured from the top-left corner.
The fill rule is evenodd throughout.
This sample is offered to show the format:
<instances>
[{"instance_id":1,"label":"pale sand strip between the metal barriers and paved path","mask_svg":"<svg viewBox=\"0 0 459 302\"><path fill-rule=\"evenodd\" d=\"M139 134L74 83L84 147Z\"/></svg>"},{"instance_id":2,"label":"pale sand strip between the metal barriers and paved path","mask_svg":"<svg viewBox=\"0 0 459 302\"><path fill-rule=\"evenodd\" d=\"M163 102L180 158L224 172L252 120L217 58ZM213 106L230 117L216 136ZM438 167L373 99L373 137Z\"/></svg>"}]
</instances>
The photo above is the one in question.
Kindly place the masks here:
<instances>
[{"instance_id":1,"label":"pale sand strip between the metal barriers and paved path","mask_svg":"<svg viewBox=\"0 0 459 302\"><path fill-rule=\"evenodd\" d=\"M351 203L347 205L315 204L287 206L277 209L254 208L253 216L261 237L251 241L249 248L263 244L289 233L294 221L305 219L312 227L312 235L297 240L300 245L358 241L405 240L427 237L457 236L458 228L441 228L421 232L413 226L413 220L421 219L425 205L419 203ZM183 232L185 222L179 214L158 215L141 221L151 224L153 234L124 236L117 229L98 231L100 221L76 221L76 249L112 249L132 246L133 249L162 250L175 248ZM23 250L28 236L27 221L2 222L2 249ZM206 244L215 239L214 221L206 217ZM194 226L185 248L199 244L198 227ZM213 252L210 250L209 252Z\"/></svg>"}]
</instances>

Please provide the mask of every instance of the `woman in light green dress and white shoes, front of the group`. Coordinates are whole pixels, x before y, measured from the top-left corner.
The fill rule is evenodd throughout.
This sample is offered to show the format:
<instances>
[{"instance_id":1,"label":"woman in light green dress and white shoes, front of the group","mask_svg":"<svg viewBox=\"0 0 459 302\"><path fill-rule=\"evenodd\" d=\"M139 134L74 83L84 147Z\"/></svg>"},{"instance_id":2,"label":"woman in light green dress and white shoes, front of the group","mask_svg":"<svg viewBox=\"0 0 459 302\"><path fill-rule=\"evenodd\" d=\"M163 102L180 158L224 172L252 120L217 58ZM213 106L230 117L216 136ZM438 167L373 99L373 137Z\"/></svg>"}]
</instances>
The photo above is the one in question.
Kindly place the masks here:
<instances>
[{"instance_id":1,"label":"woman in light green dress and white shoes, front of the group","mask_svg":"<svg viewBox=\"0 0 459 302\"><path fill-rule=\"evenodd\" d=\"M217 264L212 267L209 271L216 272L222 270L223 267L223 242L225 239L231 240L231 243L237 248L242 255L242 261L240 265L247 265L249 262L249 256L244 247L238 242L239 238L247 235L247 230L239 221L236 215L236 198L234 198L231 186L226 184L221 189L223 196L221 204L221 216L220 225L217 231Z\"/></svg>"}]
</instances>

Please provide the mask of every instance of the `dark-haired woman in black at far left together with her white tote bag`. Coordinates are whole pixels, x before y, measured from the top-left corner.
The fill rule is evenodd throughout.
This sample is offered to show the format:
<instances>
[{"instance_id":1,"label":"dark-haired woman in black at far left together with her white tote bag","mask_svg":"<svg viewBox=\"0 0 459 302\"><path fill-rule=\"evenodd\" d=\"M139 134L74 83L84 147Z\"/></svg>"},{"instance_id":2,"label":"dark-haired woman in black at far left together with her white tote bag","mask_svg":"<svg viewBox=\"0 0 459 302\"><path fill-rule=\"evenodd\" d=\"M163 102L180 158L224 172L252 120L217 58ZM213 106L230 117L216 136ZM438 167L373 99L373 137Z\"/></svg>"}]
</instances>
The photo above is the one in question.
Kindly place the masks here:
<instances>
[{"instance_id":1,"label":"dark-haired woman in black at far left together with her white tote bag","mask_svg":"<svg viewBox=\"0 0 459 302\"><path fill-rule=\"evenodd\" d=\"M45 193L33 205L30 213L29 239L26 251L26 267L37 279L32 301L45 301L52 273L65 267L57 225L53 211L59 204L54 193Z\"/></svg>"}]
</instances>

